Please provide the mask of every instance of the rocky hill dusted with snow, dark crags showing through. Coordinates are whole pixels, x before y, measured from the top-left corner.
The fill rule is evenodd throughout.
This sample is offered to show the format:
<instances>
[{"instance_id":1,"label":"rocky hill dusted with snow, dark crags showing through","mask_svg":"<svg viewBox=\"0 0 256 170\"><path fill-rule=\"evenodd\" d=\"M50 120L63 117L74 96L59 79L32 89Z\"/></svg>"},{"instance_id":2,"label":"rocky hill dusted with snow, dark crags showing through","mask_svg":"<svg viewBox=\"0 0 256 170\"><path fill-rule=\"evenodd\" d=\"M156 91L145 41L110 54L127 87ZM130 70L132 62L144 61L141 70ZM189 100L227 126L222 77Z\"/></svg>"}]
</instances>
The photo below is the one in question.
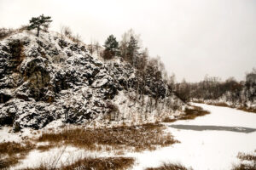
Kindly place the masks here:
<instances>
[{"instance_id":1,"label":"rocky hill dusted with snow, dark crags showing through","mask_svg":"<svg viewBox=\"0 0 256 170\"><path fill-rule=\"evenodd\" d=\"M180 114L185 105L165 82L148 78L142 91L142 77L130 64L93 58L84 44L56 32L4 38L0 61L0 125L16 131L57 119L102 126L155 122Z\"/></svg>"}]
</instances>

